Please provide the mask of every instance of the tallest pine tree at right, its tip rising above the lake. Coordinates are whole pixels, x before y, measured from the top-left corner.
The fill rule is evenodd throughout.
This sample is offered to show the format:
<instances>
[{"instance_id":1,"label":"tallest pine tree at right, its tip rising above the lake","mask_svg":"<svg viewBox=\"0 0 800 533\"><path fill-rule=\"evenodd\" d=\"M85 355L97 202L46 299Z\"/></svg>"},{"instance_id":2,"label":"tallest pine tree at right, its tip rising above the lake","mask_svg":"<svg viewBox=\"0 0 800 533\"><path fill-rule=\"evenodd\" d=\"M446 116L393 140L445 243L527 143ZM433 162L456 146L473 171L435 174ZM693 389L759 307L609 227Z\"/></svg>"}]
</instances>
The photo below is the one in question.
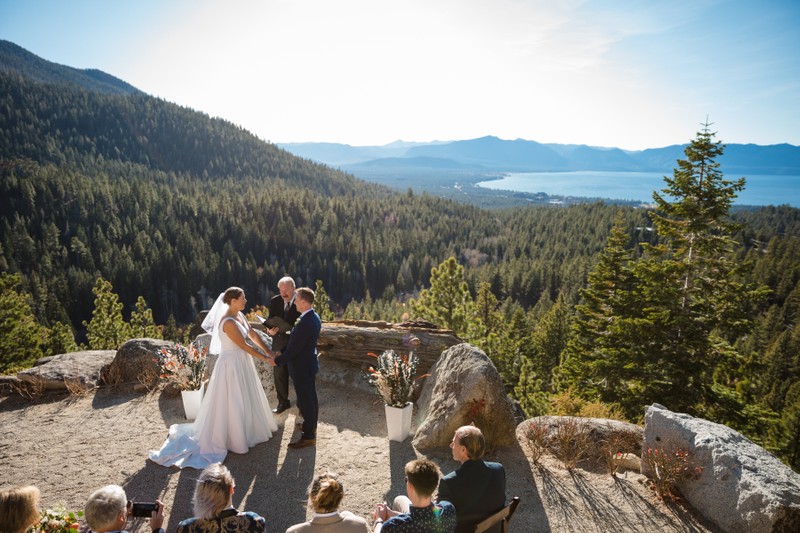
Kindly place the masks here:
<instances>
[{"instance_id":1,"label":"tallest pine tree at right, its tip rising above the lake","mask_svg":"<svg viewBox=\"0 0 800 533\"><path fill-rule=\"evenodd\" d=\"M728 213L745 180L723 179L716 158L724 147L714 136L705 124L665 178L666 197L653 194L661 242L643 244L634 267L644 302L636 339L648 349L638 362L647 369L642 400L700 415L718 396L715 369L738 364L730 344L747 332L749 304L763 294L739 281L732 236L739 227Z\"/></svg>"}]
</instances>

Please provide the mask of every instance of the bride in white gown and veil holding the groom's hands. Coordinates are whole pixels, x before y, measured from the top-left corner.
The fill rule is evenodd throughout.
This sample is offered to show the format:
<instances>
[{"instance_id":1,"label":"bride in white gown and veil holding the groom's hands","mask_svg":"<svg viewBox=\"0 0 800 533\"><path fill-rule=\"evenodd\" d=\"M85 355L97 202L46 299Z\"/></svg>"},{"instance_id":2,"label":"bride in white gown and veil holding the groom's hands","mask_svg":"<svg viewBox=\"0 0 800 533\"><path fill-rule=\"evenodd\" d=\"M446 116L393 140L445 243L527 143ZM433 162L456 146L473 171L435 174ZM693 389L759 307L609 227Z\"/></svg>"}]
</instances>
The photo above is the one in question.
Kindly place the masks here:
<instances>
[{"instance_id":1,"label":"bride in white gown and veil holding the groom's hands","mask_svg":"<svg viewBox=\"0 0 800 533\"><path fill-rule=\"evenodd\" d=\"M208 391L193 423L174 424L160 450L151 450L154 462L180 468L203 469L221 463L228 450L247 453L278 430L251 359L271 358L247 344L250 338L268 353L258 334L242 314L244 291L231 287L219 295L203 321L211 333L210 353L219 353Z\"/></svg>"}]
</instances>

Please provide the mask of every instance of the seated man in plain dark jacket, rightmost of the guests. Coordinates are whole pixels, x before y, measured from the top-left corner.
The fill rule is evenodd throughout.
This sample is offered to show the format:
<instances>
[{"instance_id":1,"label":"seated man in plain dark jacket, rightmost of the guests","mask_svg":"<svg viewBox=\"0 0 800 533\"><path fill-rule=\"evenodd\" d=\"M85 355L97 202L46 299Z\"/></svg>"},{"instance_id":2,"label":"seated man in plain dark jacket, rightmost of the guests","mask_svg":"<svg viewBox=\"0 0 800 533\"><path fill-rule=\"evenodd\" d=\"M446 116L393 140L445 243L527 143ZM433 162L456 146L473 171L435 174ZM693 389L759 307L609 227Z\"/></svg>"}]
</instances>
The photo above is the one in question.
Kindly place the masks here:
<instances>
[{"instance_id":1,"label":"seated man in plain dark jacket, rightmost of the guests","mask_svg":"<svg viewBox=\"0 0 800 533\"><path fill-rule=\"evenodd\" d=\"M500 463L481 459L485 447L483 433L475 426L458 428L450 443L453 459L461 466L439 482L438 498L456 507L456 533L472 533L478 522L506 504L506 471Z\"/></svg>"}]
</instances>

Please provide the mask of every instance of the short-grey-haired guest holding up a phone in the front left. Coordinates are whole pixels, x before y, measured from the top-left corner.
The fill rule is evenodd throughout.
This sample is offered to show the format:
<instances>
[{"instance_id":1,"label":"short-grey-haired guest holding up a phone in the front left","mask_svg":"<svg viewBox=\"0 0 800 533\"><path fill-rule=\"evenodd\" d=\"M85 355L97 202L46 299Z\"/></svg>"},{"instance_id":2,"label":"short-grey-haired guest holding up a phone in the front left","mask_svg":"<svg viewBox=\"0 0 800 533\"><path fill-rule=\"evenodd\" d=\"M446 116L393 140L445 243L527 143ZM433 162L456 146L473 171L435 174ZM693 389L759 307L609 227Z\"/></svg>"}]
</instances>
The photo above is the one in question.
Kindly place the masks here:
<instances>
[{"instance_id":1,"label":"short-grey-haired guest holding up a phone in the front left","mask_svg":"<svg viewBox=\"0 0 800 533\"><path fill-rule=\"evenodd\" d=\"M153 533L164 533L164 504L156 500L157 510L150 516ZM125 491L119 485L106 485L94 491L86 502L83 516L94 533L120 531L124 533L125 524L131 516L133 502L128 501Z\"/></svg>"}]
</instances>

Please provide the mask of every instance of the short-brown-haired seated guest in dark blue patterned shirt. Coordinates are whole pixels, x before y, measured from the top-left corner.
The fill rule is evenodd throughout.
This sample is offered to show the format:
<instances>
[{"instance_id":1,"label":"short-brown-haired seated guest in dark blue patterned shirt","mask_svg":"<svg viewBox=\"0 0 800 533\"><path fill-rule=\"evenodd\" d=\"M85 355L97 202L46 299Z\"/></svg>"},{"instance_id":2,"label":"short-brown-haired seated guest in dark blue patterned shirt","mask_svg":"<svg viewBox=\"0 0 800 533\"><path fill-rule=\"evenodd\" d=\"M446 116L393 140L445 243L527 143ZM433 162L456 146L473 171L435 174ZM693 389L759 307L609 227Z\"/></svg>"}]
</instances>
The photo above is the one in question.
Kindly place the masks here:
<instances>
[{"instance_id":1,"label":"short-brown-haired seated guest in dark blue patterned shirt","mask_svg":"<svg viewBox=\"0 0 800 533\"><path fill-rule=\"evenodd\" d=\"M392 509L385 502L375 507L374 533L453 533L456 527L453 504L431 501L441 475L436 463L424 458L409 461L405 472L408 496L395 498Z\"/></svg>"}]
</instances>

